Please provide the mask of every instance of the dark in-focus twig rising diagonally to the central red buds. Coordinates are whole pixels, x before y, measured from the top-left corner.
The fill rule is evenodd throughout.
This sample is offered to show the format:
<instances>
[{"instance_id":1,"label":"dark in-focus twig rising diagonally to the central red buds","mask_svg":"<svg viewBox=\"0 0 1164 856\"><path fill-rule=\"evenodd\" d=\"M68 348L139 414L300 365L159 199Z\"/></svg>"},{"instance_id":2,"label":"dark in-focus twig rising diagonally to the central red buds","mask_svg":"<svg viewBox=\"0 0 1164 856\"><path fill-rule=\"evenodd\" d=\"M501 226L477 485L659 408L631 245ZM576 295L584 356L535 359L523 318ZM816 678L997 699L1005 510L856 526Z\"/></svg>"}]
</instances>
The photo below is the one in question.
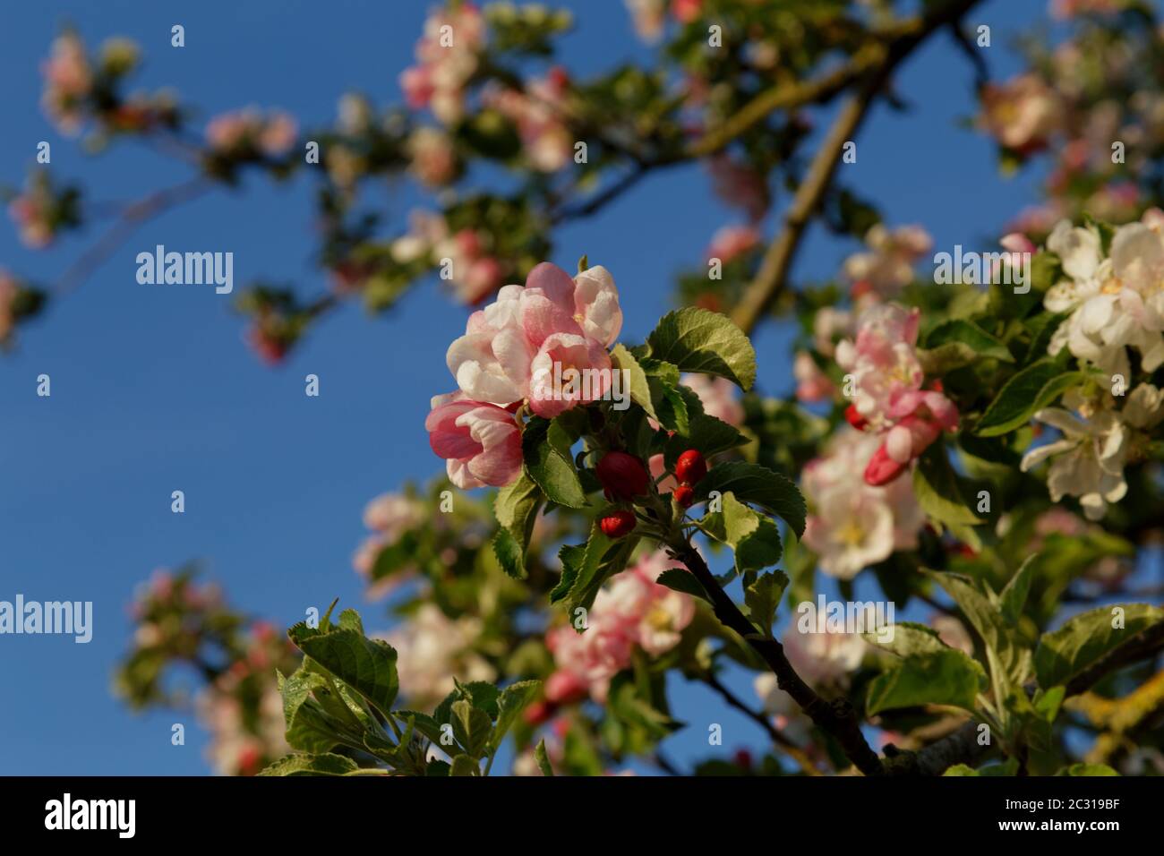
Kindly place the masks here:
<instances>
[{"instance_id":1,"label":"dark in-focus twig rising diagonally to the central red buds","mask_svg":"<svg viewBox=\"0 0 1164 856\"><path fill-rule=\"evenodd\" d=\"M865 735L861 734L857 712L847 699L825 701L816 691L796 674L783 646L772 637L761 636L752 623L739 611L734 601L716 582L708 564L698 551L686 540L676 540L667 545L672 553L683 563L700 581L711 600L716 617L730 630L734 630L754 650L776 675L778 686L788 693L793 701L800 705L804 714L823 731L830 734L845 756L866 776L880 776L881 759L876 756Z\"/></svg>"}]
</instances>

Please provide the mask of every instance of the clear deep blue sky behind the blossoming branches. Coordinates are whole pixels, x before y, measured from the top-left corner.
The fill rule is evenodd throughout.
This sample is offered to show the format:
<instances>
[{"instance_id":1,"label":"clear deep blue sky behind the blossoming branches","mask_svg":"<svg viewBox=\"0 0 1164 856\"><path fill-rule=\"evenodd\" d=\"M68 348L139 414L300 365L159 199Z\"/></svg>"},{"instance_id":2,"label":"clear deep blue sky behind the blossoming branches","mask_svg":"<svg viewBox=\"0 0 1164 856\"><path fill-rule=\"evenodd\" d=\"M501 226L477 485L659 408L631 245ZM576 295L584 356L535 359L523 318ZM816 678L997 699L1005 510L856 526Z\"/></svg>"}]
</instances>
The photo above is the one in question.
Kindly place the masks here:
<instances>
[{"instance_id":1,"label":"clear deep blue sky behind the blossoming branches","mask_svg":"<svg viewBox=\"0 0 1164 856\"><path fill-rule=\"evenodd\" d=\"M579 12L563 59L579 73L634 59L623 3L561 3ZM54 7L54 8L50 8ZM140 0L20 3L0 29L0 182L20 184L36 144L52 143L52 169L79 179L94 200L126 200L180 182L179 164L120 144L100 157L62 139L41 114L38 66L61 24L91 44L126 35L143 48L144 89L176 87L205 114L257 104L292 111L312 126L334 116L347 90L379 104L399 100L426 2L203 2L180 13ZM987 61L1009 75L1008 34L1042 13L1043 0L981 7L994 29ZM170 47L182 23L186 47ZM972 72L946 37L901 70L907 113L878 107L843 177L875 199L889 224L918 222L936 245L974 243L1034 200L1031 178L998 176L988 141L956 122L973 109ZM822 123L825 118L822 118ZM413 200L383 188L399 218ZM374 197L375 198L375 197ZM780 200L782 201L782 200ZM0 637L0 773L203 773L204 736L187 723L170 745L171 714L134 716L109 693L114 663L129 642L134 586L162 566L201 559L232 601L285 625L334 596L361 606L350 556L363 537L360 512L378 493L424 480L440 461L427 448L428 399L447 391L447 344L464 312L434 283L386 317L355 305L328 318L281 369L258 363L242 341L229 298L210 288L140 285L136 254L230 250L235 282L294 281L325 286L311 262L311 184L248 181L150 221L77 291L22 331L0 359L0 599L91 600L94 636ZM641 339L669 307L670 276L700 261L716 228L734 214L709 194L700 168L645 182L599 217L556 235L563 266L583 253L615 275L624 338ZM0 228L0 266L52 282L100 234L90 227L50 252L33 253L10 224ZM832 275L852 245L814 231L799 276ZM787 331L758 335L760 381L790 385ZM304 375L319 375L308 398ZM52 379L37 397L36 376ZM186 514L170 512L170 493ZM375 615L368 607L365 615ZM375 625L376 622L368 621ZM744 675L732 685L751 698ZM703 721L724 724L725 745L755 745L759 729L697 687L676 681L674 706L693 728L667 742L680 761L707 752Z\"/></svg>"}]
</instances>

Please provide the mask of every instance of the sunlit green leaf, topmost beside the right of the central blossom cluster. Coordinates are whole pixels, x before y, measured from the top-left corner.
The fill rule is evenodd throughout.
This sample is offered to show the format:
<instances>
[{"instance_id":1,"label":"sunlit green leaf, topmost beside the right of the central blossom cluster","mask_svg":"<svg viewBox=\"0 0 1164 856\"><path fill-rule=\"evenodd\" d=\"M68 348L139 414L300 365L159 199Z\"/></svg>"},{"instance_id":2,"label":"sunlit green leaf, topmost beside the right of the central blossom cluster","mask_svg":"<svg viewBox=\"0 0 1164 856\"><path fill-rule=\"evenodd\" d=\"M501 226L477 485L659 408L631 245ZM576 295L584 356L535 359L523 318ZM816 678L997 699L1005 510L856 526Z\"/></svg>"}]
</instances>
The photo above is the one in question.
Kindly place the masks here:
<instances>
[{"instance_id":1,"label":"sunlit green leaf, topmost beside the right of the central blossom cluster","mask_svg":"<svg viewBox=\"0 0 1164 856\"><path fill-rule=\"evenodd\" d=\"M668 312L647 337L651 356L681 372L726 377L740 389L755 381L755 349L726 316L689 306Z\"/></svg>"}]
</instances>

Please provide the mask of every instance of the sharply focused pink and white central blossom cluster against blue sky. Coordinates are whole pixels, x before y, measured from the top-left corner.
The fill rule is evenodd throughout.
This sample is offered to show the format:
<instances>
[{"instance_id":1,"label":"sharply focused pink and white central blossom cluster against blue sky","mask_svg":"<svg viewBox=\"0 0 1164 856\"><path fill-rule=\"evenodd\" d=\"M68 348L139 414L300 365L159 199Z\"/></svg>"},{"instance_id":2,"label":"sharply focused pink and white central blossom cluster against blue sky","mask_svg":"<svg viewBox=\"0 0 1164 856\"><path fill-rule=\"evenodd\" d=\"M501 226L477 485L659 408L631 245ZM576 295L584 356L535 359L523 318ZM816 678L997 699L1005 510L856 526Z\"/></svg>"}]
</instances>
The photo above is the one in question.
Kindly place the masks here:
<instances>
[{"instance_id":1,"label":"sharply focused pink and white central blossom cluster against blue sky","mask_svg":"<svg viewBox=\"0 0 1164 856\"><path fill-rule=\"evenodd\" d=\"M544 417L596 401L606 387L584 394L565 388L554 366L605 372L623 326L615 281L603 267L570 277L542 262L526 284L505 285L474 312L446 361L459 389L436 396L425 422L433 451L445 458L460 488L504 487L521 471L521 433L514 411L523 403ZM556 385L555 385L556 384Z\"/></svg>"}]
</instances>

